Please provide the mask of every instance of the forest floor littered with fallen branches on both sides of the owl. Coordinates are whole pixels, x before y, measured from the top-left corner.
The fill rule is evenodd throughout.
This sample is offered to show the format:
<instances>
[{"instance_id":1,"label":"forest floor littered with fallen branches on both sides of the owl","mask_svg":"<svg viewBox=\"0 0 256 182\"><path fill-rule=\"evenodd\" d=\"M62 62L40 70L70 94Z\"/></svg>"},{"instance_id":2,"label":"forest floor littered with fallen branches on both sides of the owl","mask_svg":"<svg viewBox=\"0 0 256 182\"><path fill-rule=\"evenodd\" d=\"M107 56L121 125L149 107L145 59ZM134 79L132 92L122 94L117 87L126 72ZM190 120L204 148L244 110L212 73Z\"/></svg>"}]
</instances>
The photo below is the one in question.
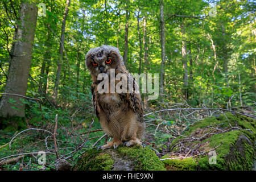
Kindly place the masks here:
<instances>
[{"instance_id":1,"label":"forest floor littered with fallen branches on both sides of the owl","mask_svg":"<svg viewBox=\"0 0 256 182\"><path fill-rule=\"evenodd\" d=\"M173 106L178 109L172 110ZM180 142L174 151L177 139L184 137L184 133L202 119L219 117L224 113L222 110L190 110L192 108L182 106L183 104L172 105L171 109L161 111L157 108L145 112L148 114L144 115L144 143L159 159L167 158L171 154L179 158L191 155L192 148L186 148ZM233 110L245 115L255 114L249 107ZM47 122L43 122L41 117L34 117L27 119L26 123L26 129L23 130L0 130L1 170L56 170L61 161L67 161L67 165L71 167L86 150L110 140L101 130L97 118L92 114L84 114L83 110L75 110L66 115L55 114L55 119ZM197 146L192 155L199 155L200 152L202 151ZM42 158L44 154L45 164ZM120 168L122 166L119 165Z\"/></svg>"}]
</instances>

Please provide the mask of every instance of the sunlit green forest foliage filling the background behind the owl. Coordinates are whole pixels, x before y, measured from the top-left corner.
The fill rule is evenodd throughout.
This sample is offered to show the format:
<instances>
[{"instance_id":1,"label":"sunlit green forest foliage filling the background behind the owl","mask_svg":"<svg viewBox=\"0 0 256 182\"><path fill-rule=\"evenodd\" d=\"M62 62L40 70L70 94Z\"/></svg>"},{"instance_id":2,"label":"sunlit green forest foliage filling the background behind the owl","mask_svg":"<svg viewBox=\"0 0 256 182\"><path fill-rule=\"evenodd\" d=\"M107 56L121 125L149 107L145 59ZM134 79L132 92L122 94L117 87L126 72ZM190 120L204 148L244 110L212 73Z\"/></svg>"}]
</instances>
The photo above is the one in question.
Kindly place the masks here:
<instances>
[{"instance_id":1,"label":"sunlit green forest foliage filling the background behind the owl","mask_svg":"<svg viewBox=\"0 0 256 182\"><path fill-rule=\"evenodd\" d=\"M181 102L192 107L229 107L230 109L242 105L251 106L253 112L256 100L255 4L248 0L217 1L215 2L216 15L209 16L209 12L213 8L210 4L211 1L164 0L163 2L166 27L164 102L160 102L159 98L147 101L148 94L142 94L144 103L147 101L145 113L150 110L170 109L172 106L170 107L168 104ZM28 85L26 86L26 96L39 98L40 103L20 98L22 104L26 106L26 117L0 118L0 132L3 132L3 136L5 136L0 139L0 144L10 142L14 131L20 131L27 127L52 129L55 115L58 114L58 139L63 141L60 142L60 148L71 147L66 150L61 149L60 153L64 154L72 151L72 147L76 147L78 143L82 142L79 135L88 131L92 118L96 121L92 130L101 128L93 115L90 91L92 78L85 66L85 55L90 48L102 44L118 47L123 55L126 10L130 11L127 69L131 73L138 73L141 60L142 73L160 73L159 1L129 1L128 7L122 0L71 1L65 26L63 65L57 100L52 97L52 94L55 87L56 68L60 59L61 22L65 0L42 0L40 3L46 5L46 16L38 16ZM19 6L20 1L4 0L0 2L0 93L5 93L9 60L13 56L11 51L15 40ZM184 32L181 32L182 25ZM181 53L184 42L187 48L188 87L184 86L184 57ZM146 60L146 56L148 60ZM188 89L188 98L185 101L184 89ZM13 104L13 109L18 109L14 99L10 99L9 103ZM217 118L206 118L203 122L198 122L195 125L192 123L196 122L196 119L184 121L178 115L166 114L163 119L156 117L157 115L152 114L146 118L155 119L157 125L162 123L161 126L166 127L174 127L180 122L184 122L187 126L185 133L188 135L198 127L204 128L222 122L224 124L221 127L227 127L228 122L233 122L242 129L253 131L253 134L248 131L239 133L232 131L227 136L216 136L214 145L220 142L221 137L227 137L226 143L224 143L226 148L232 144L232 138L240 136L238 134L244 134L252 140L255 139L255 121L250 121L249 118L245 119L240 115L226 114L226 116L220 115ZM229 118L229 121L226 120L226 117ZM247 122L244 122L245 120ZM147 130L154 132L155 127L149 126ZM73 131L77 132L76 137L73 135L67 137L67 133L70 134ZM90 137L99 137L102 134L103 131L91 133ZM2 137L2 135L0 136ZM44 139L47 136L46 134L28 133L28 136L22 140L13 141L12 150L8 151L6 147L1 148L2 151L5 151L1 155L3 157L14 154L15 150L20 152L45 150L42 146L44 146ZM42 141L33 145L36 142L35 137L39 137ZM7 140L7 138L9 139ZM85 146L92 147L97 139L88 140ZM166 143L171 142L172 135L156 131L154 139L155 146L159 147L159 151L167 150ZM179 138L174 139L172 144L177 139ZM31 142L33 144L30 146ZM104 141L101 140L98 144L103 143ZM26 145L25 148L23 148L23 144ZM49 142L49 147L53 147L52 141ZM21 150L21 148L23 149ZM140 150L138 149L138 151ZM247 152L246 157L249 158L251 148ZM75 159L79 156L80 153L77 152ZM52 162L55 160L55 156L49 155L47 160ZM28 163L30 158L25 156L23 161ZM194 168L195 166L190 162L188 160L189 165L192 166L185 168L180 167L178 161L175 162L175 165L179 169ZM202 163L200 164L201 168L210 168L206 164L207 158L201 158L200 162ZM244 162L238 163L237 165L240 165ZM206 166L203 167L204 165ZM158 167L162 168L160 166L159 164ZM246 168L245 166L238 167ZM19 169L19 163L6 165L5 168ZM30 169L39 168L40 166L33 159L30 162ZM138 169L142 168L143 166L138 166ZM218 168L220 169L220 167Z\"/></svg>"}]
</instances>

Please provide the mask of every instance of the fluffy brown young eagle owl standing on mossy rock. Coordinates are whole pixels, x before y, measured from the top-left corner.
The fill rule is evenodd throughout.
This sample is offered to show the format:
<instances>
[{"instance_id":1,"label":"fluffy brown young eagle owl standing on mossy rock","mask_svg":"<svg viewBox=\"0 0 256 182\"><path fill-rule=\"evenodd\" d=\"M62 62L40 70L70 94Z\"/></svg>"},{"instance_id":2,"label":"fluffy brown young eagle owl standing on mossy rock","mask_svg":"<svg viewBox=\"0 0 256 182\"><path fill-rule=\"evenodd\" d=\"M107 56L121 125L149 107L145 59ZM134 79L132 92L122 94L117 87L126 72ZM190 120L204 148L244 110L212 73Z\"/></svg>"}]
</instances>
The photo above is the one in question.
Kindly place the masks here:
<instances>
[{"instance_id":1,"label":"fluffy brown young eagle owl standing on mossy rock","mask_svg":"<svg viewBox=\"0 0 256 182\"><path fill-rule=\"evenodd\" d=\"M143 106L141 95L135 92L138 88L137 82L127 71L123 58L118 48L112 46L101 46L90 49L86 54L86 67L92 76L92 102L94 111L100 121L102 130L113 138L107 144L101 146L102 150L110 147L117 148L119 144L125 146L143 145L141 139L144 132ZM110 69L114 73L114 88L120 80L115 79L118 73L123 73L127 83L133 80L133 92L130 92L129 86L122 85L121 88L127 88L127 92L110 92ZM100 73L105 73L109 78L109 91L99 93L98 87L101 79L97 79ZM129 78L130 76L130 78ZM105 78L104 78L105 80ZM113 85L113 80L112 80ZM105 86L105 85L104 85ZM103 88L104 89L104 88Z\"/></svg>"}]
</instances>

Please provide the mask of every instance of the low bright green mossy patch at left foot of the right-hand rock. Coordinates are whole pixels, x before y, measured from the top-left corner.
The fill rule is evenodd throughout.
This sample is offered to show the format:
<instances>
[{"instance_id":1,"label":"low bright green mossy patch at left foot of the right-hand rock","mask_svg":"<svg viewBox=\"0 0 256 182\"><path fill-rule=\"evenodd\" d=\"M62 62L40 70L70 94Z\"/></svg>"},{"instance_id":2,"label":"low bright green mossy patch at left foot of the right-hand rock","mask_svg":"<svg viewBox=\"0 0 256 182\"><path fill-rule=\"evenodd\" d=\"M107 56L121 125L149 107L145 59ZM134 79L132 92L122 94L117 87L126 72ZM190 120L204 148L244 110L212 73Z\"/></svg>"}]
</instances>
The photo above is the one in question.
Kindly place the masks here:
<instances>
[{"instance_id":1,"label":"low bright green mossy patch at left foot of the right-hand rock","mask_svg":"<svg viewBox=\"0 0 256 182\"><path fill-rule=\"evenodd\" d=\"M168 155L164 155L162 159L170 158ZM175 158L175 156L172 156ZM186 158L186 159L167 159L163 160L163 163L167 170L170 171L195 171L197 169L196 159Z\"/></svg>"}]
</instances>

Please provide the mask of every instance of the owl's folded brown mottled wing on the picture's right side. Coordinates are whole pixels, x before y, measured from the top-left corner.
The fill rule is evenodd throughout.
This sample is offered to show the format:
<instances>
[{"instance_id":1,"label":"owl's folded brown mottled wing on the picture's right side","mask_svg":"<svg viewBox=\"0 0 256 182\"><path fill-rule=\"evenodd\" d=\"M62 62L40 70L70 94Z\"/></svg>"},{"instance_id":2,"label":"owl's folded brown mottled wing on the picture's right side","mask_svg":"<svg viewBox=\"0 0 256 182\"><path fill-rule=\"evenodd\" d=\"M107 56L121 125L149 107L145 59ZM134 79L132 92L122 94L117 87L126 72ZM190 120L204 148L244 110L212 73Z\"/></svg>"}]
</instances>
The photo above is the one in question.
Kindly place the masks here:
<instances>
[{"instance_id":1,"label":"owl's folded brown mottled wing on the picture's right side","mask_svg":"<svg viewBox=\"0 0 256 182\"><path fill-rule=\"evenodd\" d=\"M143 105L142 105L142 99L141 94L138 92L135 92L135 89L139 89L139 86L135 79L133 78L133 93L127 92L127 99L130 102L131 108L133 108L134 113L138 115L139 121L143 122Z\"/></svg>"}]
</instances>

